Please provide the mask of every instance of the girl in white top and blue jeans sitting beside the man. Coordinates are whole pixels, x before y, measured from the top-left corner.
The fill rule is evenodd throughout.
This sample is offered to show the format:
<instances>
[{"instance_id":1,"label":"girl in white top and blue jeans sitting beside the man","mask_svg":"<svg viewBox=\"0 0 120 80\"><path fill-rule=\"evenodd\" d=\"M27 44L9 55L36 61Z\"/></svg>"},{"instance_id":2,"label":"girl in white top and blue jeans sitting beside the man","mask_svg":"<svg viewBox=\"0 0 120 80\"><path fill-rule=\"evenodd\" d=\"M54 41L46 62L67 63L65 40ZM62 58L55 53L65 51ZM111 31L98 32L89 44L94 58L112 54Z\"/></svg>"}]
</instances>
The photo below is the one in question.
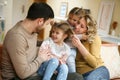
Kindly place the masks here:
<instances>
[{"instance_id":1,"label":"girl in white top and blue jeans sitting beside the man","mask_svg":"<svg viewBox=\"0 0 120 80\"><path fill-rule=\"evenodd\" d=\"M54 73L57 73L56 80L67 80L68 67L66 60L70 55L70 47L64 43L67 37L73 35L73 31L66 22L54 23L50 37L43 41L39 50L48 48L51 50L50 60L42 63L38 74L43 80L50 80Z\"/></svg>"}]
</instances>

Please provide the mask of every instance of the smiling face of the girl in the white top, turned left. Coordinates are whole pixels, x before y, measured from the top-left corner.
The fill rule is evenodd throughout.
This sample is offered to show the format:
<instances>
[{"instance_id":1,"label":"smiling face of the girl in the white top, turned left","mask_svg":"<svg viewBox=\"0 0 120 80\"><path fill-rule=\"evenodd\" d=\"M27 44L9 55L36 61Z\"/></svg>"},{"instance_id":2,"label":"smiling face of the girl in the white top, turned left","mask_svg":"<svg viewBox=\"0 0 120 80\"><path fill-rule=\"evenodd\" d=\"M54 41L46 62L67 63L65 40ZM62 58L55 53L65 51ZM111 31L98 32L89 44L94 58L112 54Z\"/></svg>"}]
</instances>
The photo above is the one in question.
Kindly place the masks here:
<instances>
[{"instance_id":1,"label":"smiling face of the girl in the white top, turned left","mask_svg":"<svg viewBox=\"0 0 120 80\"><path fill-rule=\"evenodd\" d=\"M59 28L52 29L51 38L55 43L61 44L66 38L66 34L64 34L63 30Z\"/></svg>"}]
</instances>

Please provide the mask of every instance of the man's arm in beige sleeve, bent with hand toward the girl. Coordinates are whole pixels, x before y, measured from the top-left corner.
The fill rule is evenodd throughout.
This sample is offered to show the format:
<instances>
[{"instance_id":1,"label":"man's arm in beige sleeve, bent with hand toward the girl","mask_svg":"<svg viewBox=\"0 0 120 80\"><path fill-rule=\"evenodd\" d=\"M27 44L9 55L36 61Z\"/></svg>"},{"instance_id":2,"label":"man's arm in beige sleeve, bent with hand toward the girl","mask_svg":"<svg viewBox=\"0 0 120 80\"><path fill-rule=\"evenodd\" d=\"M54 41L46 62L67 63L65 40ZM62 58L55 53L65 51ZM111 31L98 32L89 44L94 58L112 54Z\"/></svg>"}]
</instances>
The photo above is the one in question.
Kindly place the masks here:
<instances>
[{"instance_id":1,"label":"man's arm in beige sleeve, bent with hand toward the girl","mask_svg":"<svg viewBox=\"0 0 120 80\"><path fill-rule=\"evenodd\" d=\"M29 51L31 46L28 45L24 36L20 34L13 34L12 37L9 36L6 46L14 69L21 79L36 73L41 63L44 62L47 57L47 50L42 51L37 56L36 44L32 44L33 50ZM30 62L30 57L31 59L32 57L35 58Z\"/></svg>"}]
</instances>

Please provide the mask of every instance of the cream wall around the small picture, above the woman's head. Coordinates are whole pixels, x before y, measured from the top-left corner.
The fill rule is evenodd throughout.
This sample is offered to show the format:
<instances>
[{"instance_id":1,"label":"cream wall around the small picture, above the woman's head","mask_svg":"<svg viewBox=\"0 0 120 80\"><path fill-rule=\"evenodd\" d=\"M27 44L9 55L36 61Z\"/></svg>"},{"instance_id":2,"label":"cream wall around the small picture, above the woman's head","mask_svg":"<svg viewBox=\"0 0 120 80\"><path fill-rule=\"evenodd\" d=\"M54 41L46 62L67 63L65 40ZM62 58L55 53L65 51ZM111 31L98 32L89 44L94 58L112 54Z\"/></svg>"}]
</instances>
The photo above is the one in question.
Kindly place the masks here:
<instances>
[{"instance_id":1,"label":"cream wall around the small picture, above the woman's head","mask_svg":"<svg viewBox=\"0 0 120 80\"><path fill-rule=\"evenodd\" d=\"M101 0L48 0L47 3L51 5L55 12L55 16L59 17L60 13L60 5L61 2L67 2L68 3L68 12L73 8L73 7L83 7L86 9L91 10L91 14L94 16L95 19L97 19L98 16L98 8Z\"/></svg>"}]
</instances>

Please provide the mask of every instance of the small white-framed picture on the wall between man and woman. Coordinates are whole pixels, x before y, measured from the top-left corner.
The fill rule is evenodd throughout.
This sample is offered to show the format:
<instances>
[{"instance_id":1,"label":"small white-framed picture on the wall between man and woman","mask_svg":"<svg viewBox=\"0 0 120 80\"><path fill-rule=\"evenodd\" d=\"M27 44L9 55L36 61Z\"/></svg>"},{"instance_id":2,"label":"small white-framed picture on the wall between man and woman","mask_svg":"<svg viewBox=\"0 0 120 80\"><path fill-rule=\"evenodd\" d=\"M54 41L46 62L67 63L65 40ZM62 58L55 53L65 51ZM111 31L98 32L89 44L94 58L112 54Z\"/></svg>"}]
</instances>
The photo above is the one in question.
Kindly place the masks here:
<instances>
[{"instance_id":1,"label":"small white-framed picture on the wall between man and woman","mask_svg":"<svg viewBox=\"0 0 120 80\"><path fill-rule=\"evenodd\" d=\"M60 5L60 17L66 17L68 11L68 3L67 2L61 2Z\"/></svg>"}]
</instances>

